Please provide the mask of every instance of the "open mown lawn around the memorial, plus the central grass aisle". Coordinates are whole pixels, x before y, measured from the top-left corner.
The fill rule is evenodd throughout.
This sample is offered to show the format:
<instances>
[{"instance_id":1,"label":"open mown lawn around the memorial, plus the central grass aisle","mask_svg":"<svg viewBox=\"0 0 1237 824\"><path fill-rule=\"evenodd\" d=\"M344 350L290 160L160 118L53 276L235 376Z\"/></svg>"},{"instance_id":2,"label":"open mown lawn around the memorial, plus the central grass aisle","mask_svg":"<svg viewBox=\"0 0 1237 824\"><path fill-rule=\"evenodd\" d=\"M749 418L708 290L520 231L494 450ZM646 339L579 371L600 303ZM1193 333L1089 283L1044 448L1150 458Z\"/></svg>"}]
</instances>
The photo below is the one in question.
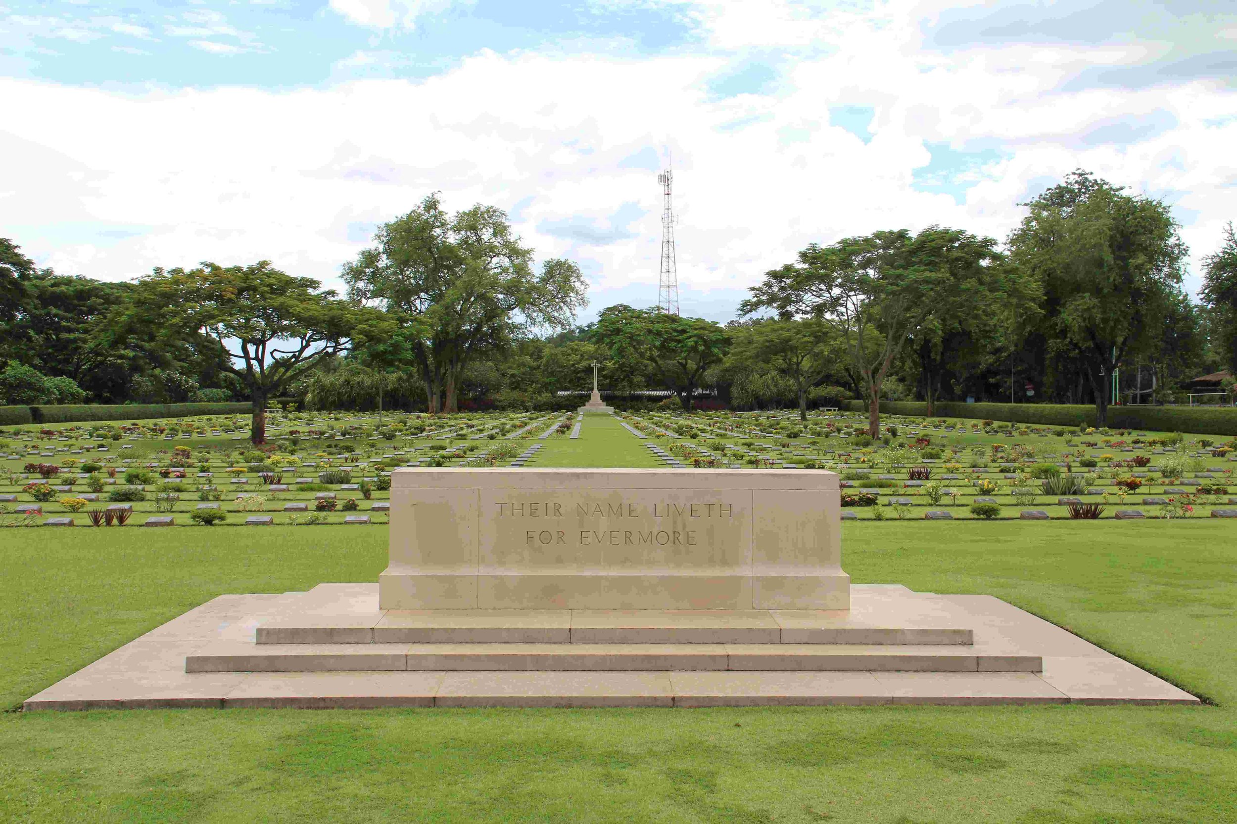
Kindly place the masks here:
<instances>
[{"instance_id":1,"label":"open mown lawn around the memorial, plus the central grass aisle","mask_svg":"<svg viewBox=\"0 0 1237 824\"><path fill-rule=\"evenodd\" d=\"M614 424L611 440L605 424L614 421L594 429L586 418L580 440L548 442L536 466L567 465L568 450L581 450L576 465L643 457L635 437ZM386 535L6 530L0 694L15 708L220 593L372 581ZM1211 703L10 712L0 720L0 818L1237 820L1231 524L845 524L844 566L857 583L998 595Z\"/></svg>"}]
</instances>

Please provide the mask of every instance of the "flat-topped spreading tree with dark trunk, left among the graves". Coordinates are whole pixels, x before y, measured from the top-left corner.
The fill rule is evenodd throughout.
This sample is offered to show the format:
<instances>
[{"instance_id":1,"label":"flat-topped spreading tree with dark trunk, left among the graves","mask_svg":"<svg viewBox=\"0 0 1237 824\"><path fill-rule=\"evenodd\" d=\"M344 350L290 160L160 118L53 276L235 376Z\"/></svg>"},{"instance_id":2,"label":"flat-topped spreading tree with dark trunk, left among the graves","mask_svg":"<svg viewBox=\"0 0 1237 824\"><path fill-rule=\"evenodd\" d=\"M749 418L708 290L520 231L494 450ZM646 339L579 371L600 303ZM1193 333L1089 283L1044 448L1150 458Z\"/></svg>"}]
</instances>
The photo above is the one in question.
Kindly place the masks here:
<instances>
[{"instance_id":1,"label":"flat-topped spreading tree with dark trunk, left among the graves","mask_svg":"<svg viewBox=\"0 0 1237 824\"><path fill-rule=\"evenodd\" d=\"M250 437L266 442L266 401L323 358L346 351L350 336L367 324L380 334L376 313L319 292L313 278L294 278L270 261L197 269L155 269L141 278L114 317L120 335L156 341L194 340L218 351L224 369L239 377L252 403Z\"/></svg>"}]
</instances>

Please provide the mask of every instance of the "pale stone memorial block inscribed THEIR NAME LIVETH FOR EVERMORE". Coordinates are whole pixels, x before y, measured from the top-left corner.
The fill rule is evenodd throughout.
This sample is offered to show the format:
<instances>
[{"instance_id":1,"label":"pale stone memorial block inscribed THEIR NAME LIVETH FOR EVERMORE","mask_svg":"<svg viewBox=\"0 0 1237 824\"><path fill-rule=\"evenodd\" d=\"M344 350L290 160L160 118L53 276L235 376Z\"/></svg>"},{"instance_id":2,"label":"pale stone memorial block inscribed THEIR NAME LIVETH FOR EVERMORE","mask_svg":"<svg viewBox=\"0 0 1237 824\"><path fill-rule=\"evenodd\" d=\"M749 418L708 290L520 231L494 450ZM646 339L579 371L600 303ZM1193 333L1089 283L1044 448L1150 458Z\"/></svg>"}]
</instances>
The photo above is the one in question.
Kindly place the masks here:
<instances>
[{"instance_id":1,"label":"pale stone memorial block inscribed THEIR NAME LIVETH FOR EVERMORE","mask_svg":"<svg viewBox=\"0 0 1237 824\"><path fill-rule=\"evenodd\" d=\"M383 609L846 609L837 476L398 469Z\"/></svg>"}]
</instances>

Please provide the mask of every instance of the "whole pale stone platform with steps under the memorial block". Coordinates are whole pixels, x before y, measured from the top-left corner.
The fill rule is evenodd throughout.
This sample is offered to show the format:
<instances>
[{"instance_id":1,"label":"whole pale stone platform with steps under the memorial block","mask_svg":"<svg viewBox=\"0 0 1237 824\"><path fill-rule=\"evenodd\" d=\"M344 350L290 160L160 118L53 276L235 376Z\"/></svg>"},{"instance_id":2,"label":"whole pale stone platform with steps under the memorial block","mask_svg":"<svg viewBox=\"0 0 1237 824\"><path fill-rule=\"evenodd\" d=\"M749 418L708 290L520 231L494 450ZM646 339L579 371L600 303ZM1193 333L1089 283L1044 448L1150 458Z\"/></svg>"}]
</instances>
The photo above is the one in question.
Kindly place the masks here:
<instances>
[{"instance_id":1,"label":"whole pale stone platform with steps under the memorial block","mask_svg":"<svg viewBox=\"0 0 1237 824\"><path fill-rule=\"evenodd\" d=\"M988 595L842 610L383 610L376 584L220 595L25 709L1197 703Z\"/></svg>"}]
</instances>

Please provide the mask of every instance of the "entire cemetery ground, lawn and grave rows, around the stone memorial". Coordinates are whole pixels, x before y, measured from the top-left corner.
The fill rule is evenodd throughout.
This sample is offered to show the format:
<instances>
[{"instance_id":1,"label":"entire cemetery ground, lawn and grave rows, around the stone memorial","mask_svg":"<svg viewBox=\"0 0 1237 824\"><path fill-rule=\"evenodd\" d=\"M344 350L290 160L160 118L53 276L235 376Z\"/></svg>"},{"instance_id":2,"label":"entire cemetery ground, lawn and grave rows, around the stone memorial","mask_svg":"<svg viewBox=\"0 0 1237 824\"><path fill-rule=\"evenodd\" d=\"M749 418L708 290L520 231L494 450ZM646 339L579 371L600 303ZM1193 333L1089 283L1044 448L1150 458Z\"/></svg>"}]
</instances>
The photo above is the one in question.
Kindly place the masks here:
<instances>
[{"instance_id":1,"label":"entire cemetery ground, lawn and grave rows, around the stone memorial","mask_svg":"<svg viewBox=\"0 0 1237 824\"><path fill-rule=\"evenodd\" d=\"M847 414L276 413L261 451L244 418L9 427L0 815L1237 820L1226 439L882 423L887 445ZM856 583L996 595L1205 704L17 712L215 595L376 579L386 473L461 465L834 469Z\"/></svg>"}]
</instances>

